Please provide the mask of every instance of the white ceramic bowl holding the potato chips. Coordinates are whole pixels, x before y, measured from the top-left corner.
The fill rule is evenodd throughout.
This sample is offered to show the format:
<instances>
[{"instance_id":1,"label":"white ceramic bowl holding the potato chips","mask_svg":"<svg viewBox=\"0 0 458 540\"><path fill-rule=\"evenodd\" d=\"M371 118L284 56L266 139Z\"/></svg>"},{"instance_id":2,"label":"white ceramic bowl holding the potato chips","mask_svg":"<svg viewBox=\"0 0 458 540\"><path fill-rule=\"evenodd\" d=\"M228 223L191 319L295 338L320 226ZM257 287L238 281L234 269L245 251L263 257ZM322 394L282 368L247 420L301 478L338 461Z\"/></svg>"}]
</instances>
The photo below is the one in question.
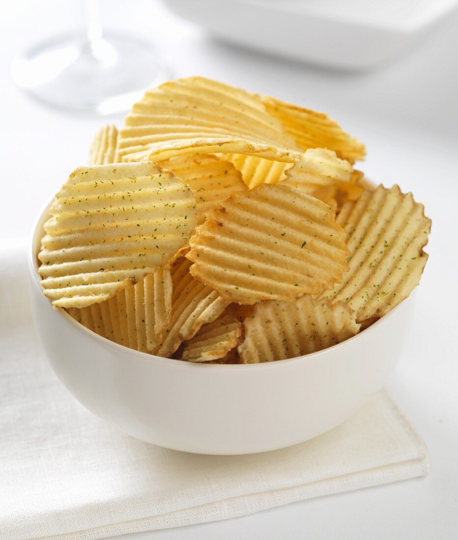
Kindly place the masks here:
<instances>
[{"instance_id":1,"label":"white ceramic bowl holding the potato chips","mask_svg":"<svg viewBox=\"0 0 458 540\"><path fill-rule=\"evenodd\" d=\"M399 359L413 298L339 345L291 360L205 365L151 356L101 338L52 309L37 253L48 205L30 243L31 305L59 379L119 429L166 448L248 454L321 435L380 390Z\"/></svg>"}]
</instances>

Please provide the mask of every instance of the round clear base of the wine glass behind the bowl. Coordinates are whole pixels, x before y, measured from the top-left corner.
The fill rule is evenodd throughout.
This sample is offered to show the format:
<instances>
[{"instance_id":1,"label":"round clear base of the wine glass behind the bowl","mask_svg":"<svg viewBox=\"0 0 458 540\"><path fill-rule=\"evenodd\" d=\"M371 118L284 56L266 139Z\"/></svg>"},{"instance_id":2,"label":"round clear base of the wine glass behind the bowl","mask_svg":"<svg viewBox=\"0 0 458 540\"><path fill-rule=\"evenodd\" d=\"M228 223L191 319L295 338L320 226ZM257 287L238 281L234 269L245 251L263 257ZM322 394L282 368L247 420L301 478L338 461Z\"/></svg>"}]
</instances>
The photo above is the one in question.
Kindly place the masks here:
<instances>
[{"instance_id":1,"label":"round clear base of the wine glass behind the bowl","mask_svg":"<svg viewBox=\"0 0 458 540\"><path fill-rule=\"evenodd\" d=\"M56 37L13 59L16 85L39 101L91 114L130 109L144 91L171 77L154 44L107 32L89 44Z\"/></svg>"}]
</instances>

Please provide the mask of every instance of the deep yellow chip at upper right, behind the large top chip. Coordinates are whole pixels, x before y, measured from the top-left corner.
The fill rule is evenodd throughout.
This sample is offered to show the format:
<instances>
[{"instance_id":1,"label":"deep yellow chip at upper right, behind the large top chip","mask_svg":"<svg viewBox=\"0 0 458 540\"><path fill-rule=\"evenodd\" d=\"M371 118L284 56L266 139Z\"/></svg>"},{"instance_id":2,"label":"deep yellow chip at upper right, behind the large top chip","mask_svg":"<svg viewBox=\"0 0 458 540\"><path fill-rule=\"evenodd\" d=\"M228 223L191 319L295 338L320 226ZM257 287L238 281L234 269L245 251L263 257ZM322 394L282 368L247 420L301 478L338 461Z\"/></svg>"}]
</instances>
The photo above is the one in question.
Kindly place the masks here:
<instances>
[{"instance_id":1,"label":"deep yellow chip at upper right, behind the large top chip","mask_svg":"<svg viewBox=\"0 0 458 540\"><path fill-rule=\"evenodd\" d=\"M327 114L304 109L270 96L261 96L261 99L267 112L280 120L302 150L327 148L334 150L338 157L350 163L363 159L366 155L364 145L343 131Z\"/></svg>"}]
</instances>

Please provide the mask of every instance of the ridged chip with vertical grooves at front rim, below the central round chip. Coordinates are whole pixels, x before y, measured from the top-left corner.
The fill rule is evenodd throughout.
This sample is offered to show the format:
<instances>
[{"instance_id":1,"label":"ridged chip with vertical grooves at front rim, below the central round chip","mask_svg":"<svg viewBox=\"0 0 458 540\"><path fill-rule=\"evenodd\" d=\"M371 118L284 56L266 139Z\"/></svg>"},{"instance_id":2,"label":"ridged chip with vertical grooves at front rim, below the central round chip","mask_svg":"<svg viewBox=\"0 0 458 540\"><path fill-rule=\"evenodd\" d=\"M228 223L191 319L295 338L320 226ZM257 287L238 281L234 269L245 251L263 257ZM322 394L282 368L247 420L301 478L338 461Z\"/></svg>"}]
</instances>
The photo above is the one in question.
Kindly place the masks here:
<instances>
[{"instance_id":1,"label":"ridged chip with vertical grooves at front rim, below the central round chip","mask_svg":"<svg viewBox=\"0 0 458 540\"><path fill-rule=\"evenodd\" d=\"M243 363L272 362L326 349L359 332L355 314L343 302L315 301L310 295L258 303L244 321L238 347Z\"/></svg>"}]
</instances>

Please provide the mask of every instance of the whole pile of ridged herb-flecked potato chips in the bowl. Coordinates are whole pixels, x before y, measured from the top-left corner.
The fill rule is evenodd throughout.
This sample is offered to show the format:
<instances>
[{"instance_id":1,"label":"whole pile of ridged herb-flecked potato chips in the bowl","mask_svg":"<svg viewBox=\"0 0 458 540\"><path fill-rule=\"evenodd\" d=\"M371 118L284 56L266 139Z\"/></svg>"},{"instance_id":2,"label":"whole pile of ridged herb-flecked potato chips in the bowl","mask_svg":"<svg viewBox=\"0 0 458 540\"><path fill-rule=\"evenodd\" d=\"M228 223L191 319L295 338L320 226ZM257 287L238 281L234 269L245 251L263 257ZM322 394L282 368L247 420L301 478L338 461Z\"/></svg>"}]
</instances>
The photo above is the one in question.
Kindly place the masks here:
<instances>
[{"instance_id":1,"label":"whole pile of ridged herb-flecked potato chips in the bowl","mask_svg":"<svg viewBox=\"0 0 458 540\"><path fill-rule=\"evenodd\" d=\"M44 225L44 294L111 341L260 363L367 328L419 283L431 221L326 114L191 77L145 93Z\"/></svg>"}]
</instances>

